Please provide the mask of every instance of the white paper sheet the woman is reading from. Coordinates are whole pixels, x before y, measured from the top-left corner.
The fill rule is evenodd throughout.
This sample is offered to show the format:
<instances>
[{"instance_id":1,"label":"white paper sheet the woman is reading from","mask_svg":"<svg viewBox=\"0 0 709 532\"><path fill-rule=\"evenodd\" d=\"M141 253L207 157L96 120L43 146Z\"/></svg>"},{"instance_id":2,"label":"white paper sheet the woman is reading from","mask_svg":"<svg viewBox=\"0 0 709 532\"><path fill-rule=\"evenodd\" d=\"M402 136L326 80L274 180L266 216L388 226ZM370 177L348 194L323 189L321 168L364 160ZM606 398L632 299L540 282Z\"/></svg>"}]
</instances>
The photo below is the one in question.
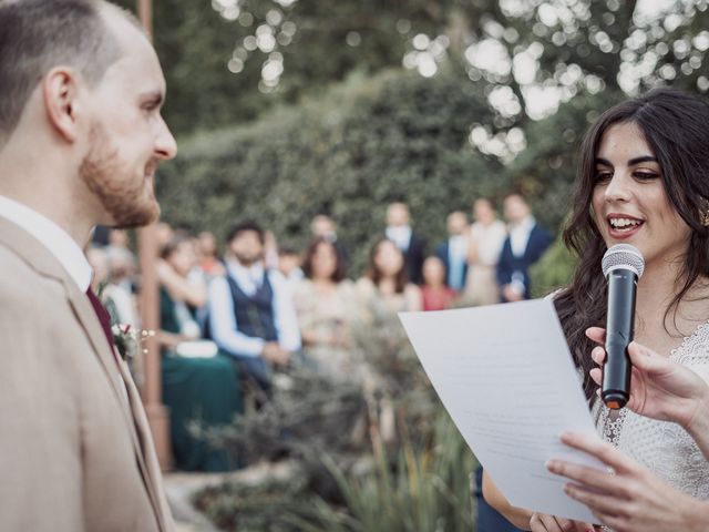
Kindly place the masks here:
<instances>
[{"instance_id":1,"label":"white paper sheet the woman is reading from","mask_svg":"<svg viewBox=\"0 0 709 532\"><path fill-rule=\"evenodd\" d=\"M605 469L559 441L565 430L597 436L553 303L399 316L441 401L507 500L597 521L544 466L561 458Z\"/></svg>"}]
</instances>

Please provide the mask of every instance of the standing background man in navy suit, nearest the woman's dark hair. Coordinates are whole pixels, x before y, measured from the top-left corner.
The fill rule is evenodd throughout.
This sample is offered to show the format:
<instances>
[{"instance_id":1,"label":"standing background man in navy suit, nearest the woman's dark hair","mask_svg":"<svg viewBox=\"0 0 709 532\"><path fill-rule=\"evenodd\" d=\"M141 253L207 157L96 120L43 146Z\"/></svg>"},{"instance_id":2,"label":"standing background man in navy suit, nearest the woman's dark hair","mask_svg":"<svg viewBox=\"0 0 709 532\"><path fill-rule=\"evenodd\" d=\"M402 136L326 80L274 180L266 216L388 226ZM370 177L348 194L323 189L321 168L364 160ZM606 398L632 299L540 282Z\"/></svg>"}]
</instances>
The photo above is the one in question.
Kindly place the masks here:
<instances>
[{"instance_id":1,"label":"standing background man in navy suit, nearest the woman's dark hair","mask_svg":"<svg viewBox=\"0 0 709 532\"><path fill-rule=\"evenodd\" d=\"M530 298L530 266L549 247L552 235L536 223L520 194L505 197L504 213L510 231L497 263L497 283L503 301L520 301Z\"/></svg>"}]
</instances>

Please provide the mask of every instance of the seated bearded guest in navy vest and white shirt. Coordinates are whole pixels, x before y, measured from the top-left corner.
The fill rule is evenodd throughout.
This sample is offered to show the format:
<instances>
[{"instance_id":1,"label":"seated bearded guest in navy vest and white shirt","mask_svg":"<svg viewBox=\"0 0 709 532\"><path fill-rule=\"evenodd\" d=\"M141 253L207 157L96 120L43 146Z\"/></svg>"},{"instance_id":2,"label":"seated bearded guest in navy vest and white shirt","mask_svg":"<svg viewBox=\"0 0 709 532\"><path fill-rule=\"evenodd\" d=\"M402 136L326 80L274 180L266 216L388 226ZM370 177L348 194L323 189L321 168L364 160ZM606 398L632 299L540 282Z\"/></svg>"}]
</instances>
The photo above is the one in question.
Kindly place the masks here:
<instances>
[{"instance_id":1,"label":"seated bearded guest in navy vest and white shirt","mask_svg":"<svg viewBox=\"0 0 709 532\"><path fill-rule=\"evenodd\" d=\"M290 289L264 265L264 231L246 222L227 237L227 274L209 285L209 331L224 352L260 389L270 388L271 370L286 367L300 349Z\"/></svg>"}]
</instances>

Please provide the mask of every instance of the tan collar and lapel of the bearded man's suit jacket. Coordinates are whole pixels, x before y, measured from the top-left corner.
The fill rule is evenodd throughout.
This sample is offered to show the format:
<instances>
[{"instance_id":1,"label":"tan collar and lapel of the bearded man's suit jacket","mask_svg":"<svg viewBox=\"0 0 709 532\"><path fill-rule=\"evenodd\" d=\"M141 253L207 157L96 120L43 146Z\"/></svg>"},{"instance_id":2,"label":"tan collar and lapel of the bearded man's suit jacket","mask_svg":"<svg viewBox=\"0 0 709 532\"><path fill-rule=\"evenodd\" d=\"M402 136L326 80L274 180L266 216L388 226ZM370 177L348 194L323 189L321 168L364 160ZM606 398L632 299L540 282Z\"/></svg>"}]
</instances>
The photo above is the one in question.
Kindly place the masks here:
<instances>
[{"instance_id":1,"label":"tan collar and lapel of the bearded man's suit jacket","mask_svg":"<svg viewBox=\"0 0 709 532\"><path fill-rule=\"evenodd\" d=\"M143 482L145 483L160 525L165 530L162 518L163 511L161 510L161 505L157 501L155 485L145 463L143 444L141 443L137 434L137 417L135 416L135 410L137 408L130 397L131 391L129 385L125 382L126 379L123 375L123 369L120 369L120 367L116 366L116 360L111 351L109 342L106 341L103 327L99 321L99 317L96 316L91 301L89 301L86 295L81 291L76 284L69 277L66 270L49 252L49 249L47 249L39 241L37 241L37 238L27 233L20 226L2 217L0 217L0 243L9 249L12 249L32 269L37 270L41 275L54 278L63 285L66 298L81 324L81 327L84 329L89 341L91 342L94 355L99 359L99 362L111 383L116 401L121 406L123 421L131 434L136 462L138 464L141 475L143 477ZM132 383L132 379L130 379L130 381Z\"/></svg>"}]
</instances>

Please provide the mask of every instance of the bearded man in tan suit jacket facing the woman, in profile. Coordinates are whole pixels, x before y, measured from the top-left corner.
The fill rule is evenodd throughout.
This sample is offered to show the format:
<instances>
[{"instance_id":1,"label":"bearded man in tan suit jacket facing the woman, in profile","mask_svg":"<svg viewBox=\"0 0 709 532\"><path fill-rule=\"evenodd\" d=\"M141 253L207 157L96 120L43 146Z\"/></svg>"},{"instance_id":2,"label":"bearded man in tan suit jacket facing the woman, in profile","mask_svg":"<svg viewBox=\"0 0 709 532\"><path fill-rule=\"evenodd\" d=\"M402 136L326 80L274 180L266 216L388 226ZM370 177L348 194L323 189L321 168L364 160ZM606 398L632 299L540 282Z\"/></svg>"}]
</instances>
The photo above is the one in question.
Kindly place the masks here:
<instances>
[{"instance_id":1,"label":"bearded man in tan suit jacket facing the woman, in profile","mask_svg":"<svg viewBox=\"0 0 709 532\"><path fill-rule=\"evenodd\" d=\"M0 2L0 530L173 530L82 253L95 225L157 218L155 168L176 152L164 94L115 6Z\"/></svg>"}]
</instances>

